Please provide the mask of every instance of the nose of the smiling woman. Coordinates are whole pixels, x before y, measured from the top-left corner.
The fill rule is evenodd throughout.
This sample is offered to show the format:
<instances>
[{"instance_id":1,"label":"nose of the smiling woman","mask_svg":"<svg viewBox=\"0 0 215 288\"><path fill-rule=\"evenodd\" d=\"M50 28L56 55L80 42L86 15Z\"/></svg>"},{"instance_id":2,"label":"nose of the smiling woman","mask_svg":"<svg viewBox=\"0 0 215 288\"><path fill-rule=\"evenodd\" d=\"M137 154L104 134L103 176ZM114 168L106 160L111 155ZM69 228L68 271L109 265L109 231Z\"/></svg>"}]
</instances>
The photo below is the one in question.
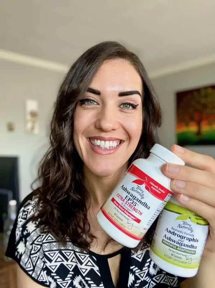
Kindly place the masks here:
<instances>
[{"instance_id":1,"label":"nose of the smiling woman","mask_svg":"<svg viewBox=\"0 0 215 288\"><path fill-rule=\"evenodd\" d=\"M111 107L101 109L101 111L97 115L95 126L97 129L101 129L105 132L117 130L119 128L117 111L114 111L113 109L111 109Z\"/></svg>"}]
</instances>

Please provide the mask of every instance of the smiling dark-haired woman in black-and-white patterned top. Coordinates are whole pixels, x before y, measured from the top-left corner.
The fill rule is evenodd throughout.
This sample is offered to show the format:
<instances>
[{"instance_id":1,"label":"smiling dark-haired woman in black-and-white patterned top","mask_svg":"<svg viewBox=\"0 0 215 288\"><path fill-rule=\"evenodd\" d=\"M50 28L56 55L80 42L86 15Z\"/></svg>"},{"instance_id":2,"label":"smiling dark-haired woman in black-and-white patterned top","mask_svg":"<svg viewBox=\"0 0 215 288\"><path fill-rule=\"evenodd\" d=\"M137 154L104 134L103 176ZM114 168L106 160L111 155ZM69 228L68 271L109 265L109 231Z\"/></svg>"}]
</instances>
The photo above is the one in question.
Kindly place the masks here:
<instances>
[{"instance_id":1,"label":"smiling dark-haired woman in black-and-white patterned top","mask_svg":"<svg viewBox=\"0 0 215 288\"><path fill-rule=\"evenodd\" d=\"M128 165L148 156L160 123L160 106L143 65L119 43L100 43L72 65L57 98L40 187L23 201L6 252L19 264L19 288L211 287L214 159L175 145L172 151L196 168L163 167L178 200L210 223L196 277L170 275L150 260L155 224L131 251L96 221Z\"/></svg>"}]
</instances>

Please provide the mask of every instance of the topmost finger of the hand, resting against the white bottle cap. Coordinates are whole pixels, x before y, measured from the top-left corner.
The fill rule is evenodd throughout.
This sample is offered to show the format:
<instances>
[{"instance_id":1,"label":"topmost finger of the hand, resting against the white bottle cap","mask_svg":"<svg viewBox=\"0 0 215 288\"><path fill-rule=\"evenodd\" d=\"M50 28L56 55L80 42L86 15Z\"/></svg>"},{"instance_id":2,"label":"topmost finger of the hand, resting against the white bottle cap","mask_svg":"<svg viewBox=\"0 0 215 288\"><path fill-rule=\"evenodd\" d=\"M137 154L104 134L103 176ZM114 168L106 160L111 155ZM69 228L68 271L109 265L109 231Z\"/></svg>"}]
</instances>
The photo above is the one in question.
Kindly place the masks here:
<instances>
[{"instance_id":1,"label":"topmost finger of the hand, resting against the white bottle cap","mask_svg":"<svg viewBox=\"0 0 215 288\"><path fill-rule=\"evenodd\" d=\"M215 173L215 160L211 156L202 155L178 145L173 145L171 151L185 163L198 169Z\"/></svg>"}]
</instances>

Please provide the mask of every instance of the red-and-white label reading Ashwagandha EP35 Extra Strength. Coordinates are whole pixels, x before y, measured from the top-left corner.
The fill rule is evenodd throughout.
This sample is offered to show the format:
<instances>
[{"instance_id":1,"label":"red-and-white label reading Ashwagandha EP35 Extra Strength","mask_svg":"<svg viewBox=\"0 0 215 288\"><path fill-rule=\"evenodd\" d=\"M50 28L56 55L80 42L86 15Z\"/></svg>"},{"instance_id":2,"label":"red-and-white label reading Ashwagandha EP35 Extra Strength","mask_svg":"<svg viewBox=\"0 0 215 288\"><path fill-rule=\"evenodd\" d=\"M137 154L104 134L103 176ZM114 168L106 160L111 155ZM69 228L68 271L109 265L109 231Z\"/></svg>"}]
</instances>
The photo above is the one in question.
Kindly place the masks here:
<instances>
[{"instance_id":1,"label":"red-and-white label reading Ashwagandha EP35 Extra Strength","mask_svg":"<svg viewBox=\"0 0 215 288\"><path fill-rule=\"evenodd\" d=\"M132 164L101 212L121 232L140 241L172 194Z\"/></svg>"}]
</instances>

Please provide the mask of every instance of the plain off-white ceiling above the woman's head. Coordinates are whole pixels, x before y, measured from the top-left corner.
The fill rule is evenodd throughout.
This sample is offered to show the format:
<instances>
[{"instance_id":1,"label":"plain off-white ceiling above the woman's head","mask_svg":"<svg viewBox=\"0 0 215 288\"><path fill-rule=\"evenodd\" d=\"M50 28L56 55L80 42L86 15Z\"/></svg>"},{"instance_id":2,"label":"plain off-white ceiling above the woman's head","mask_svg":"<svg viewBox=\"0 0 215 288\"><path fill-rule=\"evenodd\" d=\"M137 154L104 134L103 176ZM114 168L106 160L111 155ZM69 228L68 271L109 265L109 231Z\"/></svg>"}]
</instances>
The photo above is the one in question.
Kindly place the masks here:
<instances>
[{"instance_id":1,"label":"plain off-white ceiling above the woman's head","mask_svg":"<svg viewBox=\"0 0 215 288\"><path fill-rule=\"evenodd\" d=\"M215 62L214 31L215 0L0 0L0 49L62 67L117 40L156 76Z\"/></svg>"}]
</instances>

